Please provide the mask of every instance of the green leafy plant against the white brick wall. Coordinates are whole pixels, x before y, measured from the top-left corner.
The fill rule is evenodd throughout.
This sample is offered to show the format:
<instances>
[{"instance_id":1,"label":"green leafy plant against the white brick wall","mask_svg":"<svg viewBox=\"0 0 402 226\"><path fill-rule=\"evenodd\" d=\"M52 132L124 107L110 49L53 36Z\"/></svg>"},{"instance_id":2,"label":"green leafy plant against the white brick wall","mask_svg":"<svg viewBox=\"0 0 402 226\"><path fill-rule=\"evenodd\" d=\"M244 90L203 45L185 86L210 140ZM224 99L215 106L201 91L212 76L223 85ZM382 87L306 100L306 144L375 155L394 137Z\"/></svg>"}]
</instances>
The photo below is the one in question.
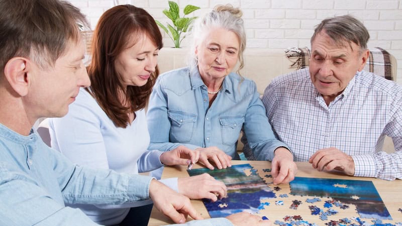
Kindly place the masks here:
<instances>
[{"instance_id":1,"label":"green leafy plant against the white brick wall","mask_svg":"<svg viewBox=\"0 0 402 226\"><path fill-rule=\"evenodd\" d=\"M184 16L188 15L196 10L200 9L199 7L192 6L192 5L187 5L184 7L183 13ZM166 34L169 35L170 39L174 43L175 48L180 48L180 43L181 41L185 38L185 35L183 33L186 33L188 30L188 27L192 23L193 20L195 20L197 17L180 17L179 15L179 7L175 2L169 1L169 10L163 10L163 14L166 15L167 18L169 18L173 26L170 25L169 23L167 24L167 28L162 25L159 21L156 21L156 24L161 27ZM170 31L170 33L169 33ZM183 37L181 35L183 34Z\"/></svg>"}]
</instances>

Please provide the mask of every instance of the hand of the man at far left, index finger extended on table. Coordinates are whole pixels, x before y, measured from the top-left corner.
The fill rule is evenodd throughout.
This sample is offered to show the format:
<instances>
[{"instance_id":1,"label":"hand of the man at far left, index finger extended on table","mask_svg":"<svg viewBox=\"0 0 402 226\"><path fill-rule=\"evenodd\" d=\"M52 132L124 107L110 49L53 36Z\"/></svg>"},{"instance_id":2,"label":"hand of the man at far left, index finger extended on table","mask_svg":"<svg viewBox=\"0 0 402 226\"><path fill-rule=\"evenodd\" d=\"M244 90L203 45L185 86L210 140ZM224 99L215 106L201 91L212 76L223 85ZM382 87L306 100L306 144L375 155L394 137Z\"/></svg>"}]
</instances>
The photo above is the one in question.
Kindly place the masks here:
<instances>
[{"instance_id":1,"label":"hand of the man at far left, index finger extended on table","mask_svg":"<svg viewBox=\"0 0 402 226\"><path fill-rule=\"evenodd\" d=\"M191 205L190 199L157 180L151 180L149 196L154 206L176 223L184 223L187 215L193 219L203 219Z\"/></svg>"}]
</instances>

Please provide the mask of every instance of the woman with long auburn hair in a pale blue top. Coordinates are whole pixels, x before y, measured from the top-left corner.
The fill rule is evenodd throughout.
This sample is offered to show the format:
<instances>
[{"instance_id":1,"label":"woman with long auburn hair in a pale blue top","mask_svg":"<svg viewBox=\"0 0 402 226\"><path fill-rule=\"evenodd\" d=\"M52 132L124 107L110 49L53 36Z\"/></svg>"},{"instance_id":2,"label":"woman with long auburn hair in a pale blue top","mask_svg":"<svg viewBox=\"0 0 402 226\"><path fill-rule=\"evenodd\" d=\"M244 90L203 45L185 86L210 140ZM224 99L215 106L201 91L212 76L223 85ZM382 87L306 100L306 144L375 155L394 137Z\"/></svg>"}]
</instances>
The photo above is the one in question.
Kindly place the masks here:
<instances>
[{"instance_id":1,"label":"woman with long auburn hair in a pale blue top","mask_svg":"<svg viewBox=\"0 0 402 226\"><path fill-rule=\"evenodd\" d=\"M79 90L65 117L50 120L52 147L73 163L124 173L198 161L199 153L184 146L169 152L147 150L150 136L144 107L158 76L157 55L162 48L154 19L131 5L114 7L100 17L92 45L87 67L91 85ZM189 198L214 201L227 189L208 174L162 182ZM99 224L147 225L151 203L74 207Z\"/></svg>"}]
</instances>

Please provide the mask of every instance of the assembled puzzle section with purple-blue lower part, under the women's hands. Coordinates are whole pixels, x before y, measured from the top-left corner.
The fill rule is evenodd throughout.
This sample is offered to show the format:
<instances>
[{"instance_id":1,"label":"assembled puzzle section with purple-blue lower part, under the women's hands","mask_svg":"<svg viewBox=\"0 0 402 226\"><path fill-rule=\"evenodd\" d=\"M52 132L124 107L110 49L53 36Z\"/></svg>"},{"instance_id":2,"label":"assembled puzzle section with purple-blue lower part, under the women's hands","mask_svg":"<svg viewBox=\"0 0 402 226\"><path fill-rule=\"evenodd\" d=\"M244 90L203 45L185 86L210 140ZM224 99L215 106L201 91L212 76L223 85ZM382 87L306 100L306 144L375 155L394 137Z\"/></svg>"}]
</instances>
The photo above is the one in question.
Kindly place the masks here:
<instances>
[{"instance_id":1,"label":"assembled puzzle section with purple-blue lower part, under the women's hands","mask_svg":"<svg viewBox=\"0 0 402 226\"><path fill-rule=\"evenodd\" d=\"M228 197L216 202L203 200L211 217L225 217L242 211L256 213L265 205L262 199L276 197L250 164L232 165L226 169L191 169L187 172L190 176L208 173L227 186Z\"/></svg>"}]
</instances>

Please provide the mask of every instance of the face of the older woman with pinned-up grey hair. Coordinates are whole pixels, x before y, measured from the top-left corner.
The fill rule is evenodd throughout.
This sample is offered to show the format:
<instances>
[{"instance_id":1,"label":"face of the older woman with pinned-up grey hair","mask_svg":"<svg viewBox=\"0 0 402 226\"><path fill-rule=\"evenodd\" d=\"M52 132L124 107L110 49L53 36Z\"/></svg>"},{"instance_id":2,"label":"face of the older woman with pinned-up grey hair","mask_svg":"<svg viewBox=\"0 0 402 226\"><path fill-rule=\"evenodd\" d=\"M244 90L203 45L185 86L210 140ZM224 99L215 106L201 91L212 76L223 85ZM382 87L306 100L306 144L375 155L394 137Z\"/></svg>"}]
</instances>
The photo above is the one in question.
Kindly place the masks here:
<instances>
[{"instance_id":1,"label":"face of the older woman with pinned-up grey hair","mask_svg":"<svg viewBox=\"0 0 402 226\"><path fill-rule=\"evenodd\" d=\"M240 40L223 28L211 29L195 48L198 70L204 79L219 79L228 75L239 58Z\"/></svg>"}]
</instances>

